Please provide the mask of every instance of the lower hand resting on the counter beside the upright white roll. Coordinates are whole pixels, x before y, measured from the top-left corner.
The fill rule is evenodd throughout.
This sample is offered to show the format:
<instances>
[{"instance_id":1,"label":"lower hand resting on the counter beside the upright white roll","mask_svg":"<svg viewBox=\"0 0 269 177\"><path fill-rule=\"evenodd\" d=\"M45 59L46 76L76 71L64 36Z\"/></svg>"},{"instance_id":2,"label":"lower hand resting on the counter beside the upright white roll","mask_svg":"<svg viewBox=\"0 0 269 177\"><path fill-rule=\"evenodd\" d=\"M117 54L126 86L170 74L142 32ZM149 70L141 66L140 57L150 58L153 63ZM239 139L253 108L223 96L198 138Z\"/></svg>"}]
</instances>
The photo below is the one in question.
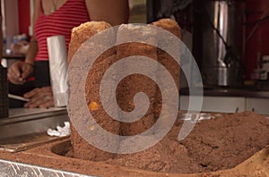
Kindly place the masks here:
<instances>
[{"instance_id":1,"label":"lower hand resting on the counter beside the upright white roll","mask_svg":"<svg viewBox=\"0 0 269 177\"><path fill-rule=\"evenodd\" d=\"M30 101L24 104L24 107L53 107L54 99L51 87L37 88L23 95L23 97L29 98Z\"/></svg>"}]
</instances>

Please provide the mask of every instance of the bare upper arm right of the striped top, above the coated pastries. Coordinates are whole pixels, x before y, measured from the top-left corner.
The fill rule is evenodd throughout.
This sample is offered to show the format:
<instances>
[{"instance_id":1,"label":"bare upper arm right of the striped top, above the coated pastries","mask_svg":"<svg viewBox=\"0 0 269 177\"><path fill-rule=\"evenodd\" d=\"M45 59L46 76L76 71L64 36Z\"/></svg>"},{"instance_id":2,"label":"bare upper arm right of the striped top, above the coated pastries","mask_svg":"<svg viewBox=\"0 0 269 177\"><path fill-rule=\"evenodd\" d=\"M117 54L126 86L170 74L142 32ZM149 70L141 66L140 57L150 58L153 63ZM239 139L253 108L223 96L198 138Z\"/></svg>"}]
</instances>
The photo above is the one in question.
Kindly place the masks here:
<instances>
[{"instance_id":1,"label":"bare upper arm right of the striped top, above the coated pastries","mask_svg":"<svg viewBox=\"0 0 269 177\"><path fill-rule=\"evenodd\" d=\"M91 21L107 21L112 26L126 23L127 0L85 0Z\"/></svg>"}]
</instances>

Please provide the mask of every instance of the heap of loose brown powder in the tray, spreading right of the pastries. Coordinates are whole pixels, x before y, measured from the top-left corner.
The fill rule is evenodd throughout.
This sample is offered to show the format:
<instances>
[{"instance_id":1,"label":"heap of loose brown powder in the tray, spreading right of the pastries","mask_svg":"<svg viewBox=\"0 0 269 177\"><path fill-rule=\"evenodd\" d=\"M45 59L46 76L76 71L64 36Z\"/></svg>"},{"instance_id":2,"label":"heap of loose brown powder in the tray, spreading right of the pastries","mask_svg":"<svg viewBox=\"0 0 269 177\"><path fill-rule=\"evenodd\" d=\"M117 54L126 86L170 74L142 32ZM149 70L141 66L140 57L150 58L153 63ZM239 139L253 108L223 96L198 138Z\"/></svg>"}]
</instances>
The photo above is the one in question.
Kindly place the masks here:
<instances>
[{"instance_id":1,"label":"heap of loose brown powder in the tray, spreading right of the pastries","mask_svg":"<svg viewBox=\"0 0 269 177\"><path fill-rule=\"evenodd\" d=\"M154 147L103 162L163 173L213 172L233 168L269 144L269 120L252 112L197 122L187 138L178 141L182 123ZM72 154L71 149L66 156Z\"/></svg>"}]
</instances>

